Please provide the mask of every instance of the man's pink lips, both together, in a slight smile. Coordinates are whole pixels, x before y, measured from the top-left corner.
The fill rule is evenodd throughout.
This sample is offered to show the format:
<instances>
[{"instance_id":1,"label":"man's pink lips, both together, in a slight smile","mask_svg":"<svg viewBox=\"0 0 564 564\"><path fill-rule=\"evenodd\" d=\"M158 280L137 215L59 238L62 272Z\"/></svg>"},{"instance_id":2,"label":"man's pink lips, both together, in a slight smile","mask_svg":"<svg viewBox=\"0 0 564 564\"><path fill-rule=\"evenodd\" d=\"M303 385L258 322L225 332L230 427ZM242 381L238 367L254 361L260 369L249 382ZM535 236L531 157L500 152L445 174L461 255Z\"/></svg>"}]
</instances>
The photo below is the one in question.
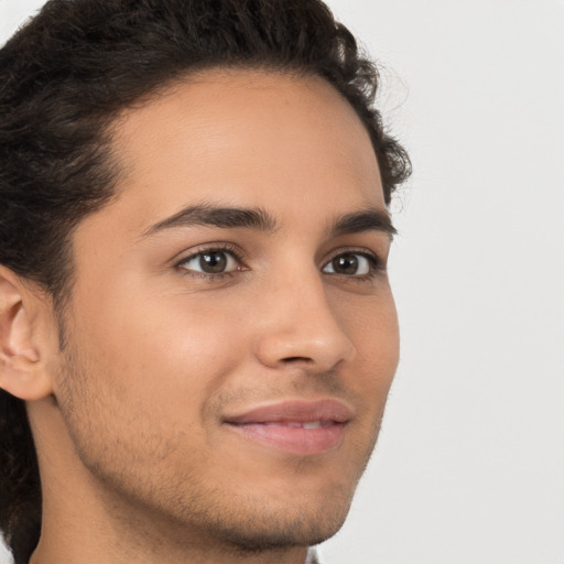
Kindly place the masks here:
<instances>
[{"instance_id":1,"label":"man's pink lips, both together, in a slight smile","mask_svg":"<svg viewBox=\"0 0 564 564\"><path fill-rule=\"evenodd\" d=\"M239 436L295 455L321 454L340 445L352 410L338 400L284 401L226 416Z\"/></svg>"}]
</instances>

